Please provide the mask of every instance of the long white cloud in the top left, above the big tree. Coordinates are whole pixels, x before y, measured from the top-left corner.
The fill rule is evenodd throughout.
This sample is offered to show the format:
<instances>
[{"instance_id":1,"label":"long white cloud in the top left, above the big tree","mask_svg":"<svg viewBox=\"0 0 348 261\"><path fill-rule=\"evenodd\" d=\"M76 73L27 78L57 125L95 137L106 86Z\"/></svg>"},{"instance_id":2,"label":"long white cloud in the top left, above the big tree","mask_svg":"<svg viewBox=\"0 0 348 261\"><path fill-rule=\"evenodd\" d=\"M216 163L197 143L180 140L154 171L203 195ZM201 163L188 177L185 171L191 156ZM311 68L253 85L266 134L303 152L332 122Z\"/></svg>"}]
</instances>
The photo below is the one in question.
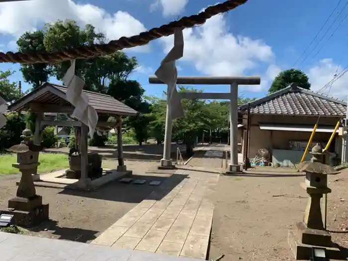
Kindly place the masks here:
<instances>
[{"instance_id":1,"label":"long white cloud in the top left, above the big tree","mask_svg":"<svg viewBox=\"0 0 348 261\"><path fill-rule=\"evenodd\" d=\"M93 24L110 40L132 36L145 31L145 26L128 12L108 13L92 5L73 0L33 0L0 3L0 34L18 38L23 32L42 27L46 22L73 19L80 25ZM135 47L133 51L149 51L149 46Z\"/></svg>"}]
</instances>

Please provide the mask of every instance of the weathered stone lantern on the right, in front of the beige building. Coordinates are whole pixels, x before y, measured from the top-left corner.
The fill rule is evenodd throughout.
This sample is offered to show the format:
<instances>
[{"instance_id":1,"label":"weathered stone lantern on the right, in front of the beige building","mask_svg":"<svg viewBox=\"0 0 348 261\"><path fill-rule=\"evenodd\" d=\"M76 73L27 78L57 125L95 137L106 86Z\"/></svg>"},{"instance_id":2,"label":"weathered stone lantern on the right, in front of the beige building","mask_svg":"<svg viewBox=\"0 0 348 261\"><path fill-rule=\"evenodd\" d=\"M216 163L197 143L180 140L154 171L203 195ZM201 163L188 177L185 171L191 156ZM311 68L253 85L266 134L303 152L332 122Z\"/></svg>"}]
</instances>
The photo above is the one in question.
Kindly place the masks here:
<instances>
[{"instance_id":1,"label":"weathered stone lantern on the right, in front of the beige building","mask_svg":"<svg viewBox=\"0 0 348 261\"><path fill-rule=\"evenodd\" d=\"M310 260L313 249L323 249L329 259L340 259L341 253L332 242L331 235L323 224L320 200L323 194L331 193L328 187L328 175L339 174L334 168L323 164L325 153L317 144L313 147L312 159L298 166L300 172L306 174L301 183L309 195L307 208L302 222L296 223L294 230L288 232L288 243L296 260Z\"/></svg>"}]
</instances>

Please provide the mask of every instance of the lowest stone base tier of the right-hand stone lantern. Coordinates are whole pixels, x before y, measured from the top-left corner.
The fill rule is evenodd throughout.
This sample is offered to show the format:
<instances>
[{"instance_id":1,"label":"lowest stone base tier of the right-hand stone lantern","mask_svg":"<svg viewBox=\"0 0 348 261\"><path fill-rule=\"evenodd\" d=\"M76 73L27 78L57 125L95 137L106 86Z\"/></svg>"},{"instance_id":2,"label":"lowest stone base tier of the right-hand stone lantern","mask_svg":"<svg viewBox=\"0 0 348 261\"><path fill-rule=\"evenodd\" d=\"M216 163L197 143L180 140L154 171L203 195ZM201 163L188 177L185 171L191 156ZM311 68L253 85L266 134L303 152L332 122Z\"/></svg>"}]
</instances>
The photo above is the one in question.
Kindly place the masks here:
<instances>
[{"instance_id":1,"label":"lowest stone base tier of the right-hand stone lantern","mask_svg":"<svg viewBox=\"0 0 348 261\"><path fill-rule=\"evenodd\" d=\"M313 247L324 248L315 245L303 244L302 242L300 242L300 239L298 238L297 233L294 230L288 231L287 241L295 260L310 260L310 258L312 258ZM328 258L329 260L346 260L343 257L340 249L334 243L332 243L331 247L325 247L324 249L326 258Z\"/></svg>"}]
</instances>

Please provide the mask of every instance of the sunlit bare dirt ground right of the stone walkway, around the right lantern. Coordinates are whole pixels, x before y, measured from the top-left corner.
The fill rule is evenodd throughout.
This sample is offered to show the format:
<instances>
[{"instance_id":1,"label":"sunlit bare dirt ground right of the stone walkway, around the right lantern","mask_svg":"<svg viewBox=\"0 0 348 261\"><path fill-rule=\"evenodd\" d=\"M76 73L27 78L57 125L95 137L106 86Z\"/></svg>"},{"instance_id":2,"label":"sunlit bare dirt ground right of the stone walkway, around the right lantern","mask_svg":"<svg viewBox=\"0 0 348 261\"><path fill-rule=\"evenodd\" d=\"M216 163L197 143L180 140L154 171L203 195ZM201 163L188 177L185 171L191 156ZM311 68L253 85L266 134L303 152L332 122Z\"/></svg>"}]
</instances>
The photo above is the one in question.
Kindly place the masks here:
<instances>
[{"instance_id":1,"label":"sunlit bare dirt ground right of the stone walkway, around the right lantern","mask_svg":"<svg viewBox=\"0 0 348 261\"><path fill-rule=\"evenodd\" d=\"M218 150L218 149L217 149ZM221 158L199 152L190 166L221 169ZM293 261L287 231L303 219L307 193L304 175L291 169L259 168L248 174L221 175L213 196L215 210L208 260ZM348 248L348 171L329 176L328 229ZM343 232L343 233L342 233Z\"/></svg>"}]
</instances>

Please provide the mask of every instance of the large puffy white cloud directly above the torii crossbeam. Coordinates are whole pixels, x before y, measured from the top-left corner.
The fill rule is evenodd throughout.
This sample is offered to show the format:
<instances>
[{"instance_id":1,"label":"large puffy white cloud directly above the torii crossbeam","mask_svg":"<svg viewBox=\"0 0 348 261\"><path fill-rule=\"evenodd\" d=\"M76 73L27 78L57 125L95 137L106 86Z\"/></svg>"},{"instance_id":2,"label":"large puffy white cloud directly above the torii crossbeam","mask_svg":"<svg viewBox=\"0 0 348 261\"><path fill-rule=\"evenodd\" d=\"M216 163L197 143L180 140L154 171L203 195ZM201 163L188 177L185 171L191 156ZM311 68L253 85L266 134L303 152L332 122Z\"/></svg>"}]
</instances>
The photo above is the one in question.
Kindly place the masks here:
<instances>
[{"instance_id":1,"label":"large puffy white cloud directly above the torii crossbeam","mask_svg":"<svg viewBox=\"0 0 348 261\"><path fill-rule=\"evenodd\" d=\"M167 53L173 47L173 36L161 41ZM184 41L184 55L180 61L192 64L207 76L242 76L261 62L272 62L273 58L271 47L263 41L228 32L223 15L184 30Z\"/></svg>"}]
</instances>

